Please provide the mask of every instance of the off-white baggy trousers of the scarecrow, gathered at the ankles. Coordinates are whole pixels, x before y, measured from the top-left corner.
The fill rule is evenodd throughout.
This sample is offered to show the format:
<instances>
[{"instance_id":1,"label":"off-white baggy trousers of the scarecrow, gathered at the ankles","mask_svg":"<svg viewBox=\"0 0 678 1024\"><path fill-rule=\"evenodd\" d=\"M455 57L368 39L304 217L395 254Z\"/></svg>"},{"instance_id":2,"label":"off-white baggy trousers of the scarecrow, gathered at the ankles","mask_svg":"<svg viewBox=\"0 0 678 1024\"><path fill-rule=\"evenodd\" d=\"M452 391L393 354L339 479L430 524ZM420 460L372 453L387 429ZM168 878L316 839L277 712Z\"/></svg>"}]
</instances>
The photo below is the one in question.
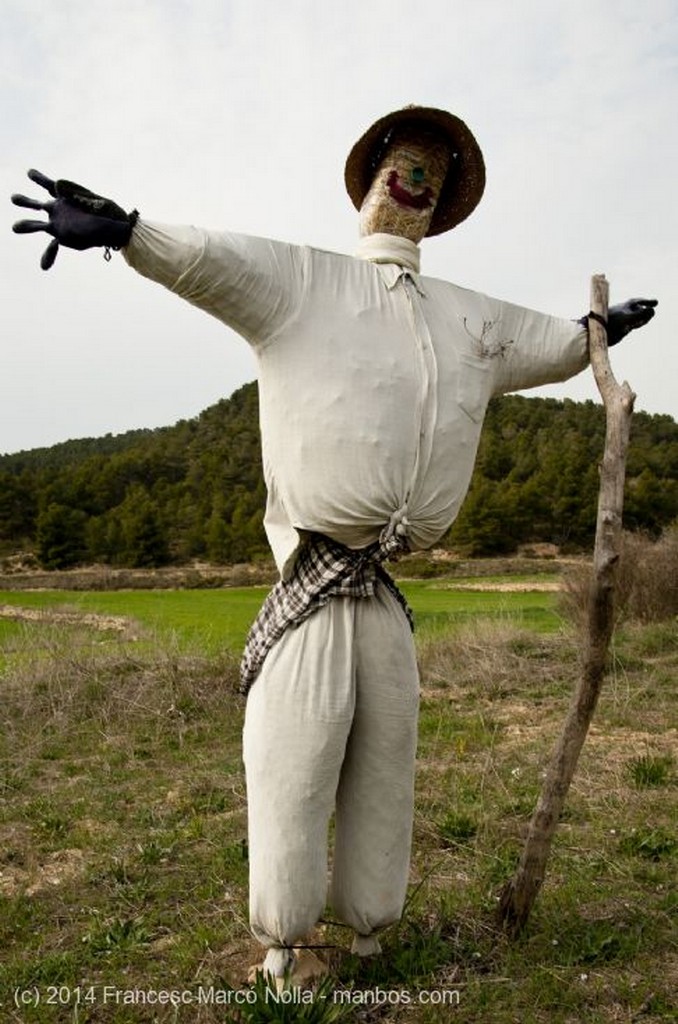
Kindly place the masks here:
<instances>
[{"instance_id":1,"label":"off-white baggy trousers of the scarecrow, gathered at the ankles","mask_svg":"<svg viewBox=\"0 0 678 1024\"><path fill-rule=\"evenodd\" d=\"M397 600L335 597L268 653L247 702L244 760L250 923L285 956L328 901L330 887L354 948L398 921L412 845L419 678L412 631ZM274 966L272 966L274 965Z\"/></svg>"}]
</instances>

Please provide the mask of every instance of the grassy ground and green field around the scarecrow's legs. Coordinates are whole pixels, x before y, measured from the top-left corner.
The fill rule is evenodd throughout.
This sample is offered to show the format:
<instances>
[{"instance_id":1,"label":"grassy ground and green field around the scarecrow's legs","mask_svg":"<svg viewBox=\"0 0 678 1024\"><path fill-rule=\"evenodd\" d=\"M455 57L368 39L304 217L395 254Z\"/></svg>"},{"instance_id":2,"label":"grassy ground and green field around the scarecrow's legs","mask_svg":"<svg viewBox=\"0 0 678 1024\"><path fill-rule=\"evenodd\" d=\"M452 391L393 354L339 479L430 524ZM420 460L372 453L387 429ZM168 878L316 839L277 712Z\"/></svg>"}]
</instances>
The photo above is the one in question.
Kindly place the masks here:
<instances>
[{"instance_id":1,"label":"grassy ground and green field around the scarecrow's legs","mask_svg":"<svg viewBox=\"0 0 678 1024\"><path fill-rule=\"evenodd\" d=\"M675 623L618 634L547 885L509 941L495 925L497 895L579 642L551 594L460 596L441 584L407 585L422 623L423 699L406 914L377 962L358 963L343 930L325 926L315 941L330 947L333 981L309 1005L263 992L250 1004L244 987L257 950L243 705L223 640L238 646L260 594L232 614L221 592L141 592L138 604L78 595L81 613L133 605L127 631L77 616L0 620L0 1019L678 1019ZM28 593L0 603L10 599L65 605Z\"/></svg>"}]
</instances>

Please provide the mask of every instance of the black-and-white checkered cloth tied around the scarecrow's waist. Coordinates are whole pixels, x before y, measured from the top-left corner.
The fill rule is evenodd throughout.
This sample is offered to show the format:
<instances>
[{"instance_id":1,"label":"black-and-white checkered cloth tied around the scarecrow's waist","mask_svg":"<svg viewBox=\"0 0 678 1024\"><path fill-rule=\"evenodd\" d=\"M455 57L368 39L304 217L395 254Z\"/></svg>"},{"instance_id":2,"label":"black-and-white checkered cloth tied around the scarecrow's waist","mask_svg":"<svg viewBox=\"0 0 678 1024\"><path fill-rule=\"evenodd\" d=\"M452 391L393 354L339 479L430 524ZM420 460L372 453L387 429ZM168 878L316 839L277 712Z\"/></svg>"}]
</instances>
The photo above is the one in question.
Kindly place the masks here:
<instances>
[{"instance_id":1,"label":"black-and-white checkered cloth tied around the scarecrow's waist","mask_svg":"<svg viewBox=\"0 0 678 1024\"><path fill-rule=\"evenodd\" d=\"M240 667L240 692L249 692L268 651L287 629L301 625L333 597L372 597L377 581L398 601L414 631L412 609L381 564L408 550L407 542L394 534L359 551L311 535L293 575L273 587L250 629Z\"/></svg>"}]
</instances>

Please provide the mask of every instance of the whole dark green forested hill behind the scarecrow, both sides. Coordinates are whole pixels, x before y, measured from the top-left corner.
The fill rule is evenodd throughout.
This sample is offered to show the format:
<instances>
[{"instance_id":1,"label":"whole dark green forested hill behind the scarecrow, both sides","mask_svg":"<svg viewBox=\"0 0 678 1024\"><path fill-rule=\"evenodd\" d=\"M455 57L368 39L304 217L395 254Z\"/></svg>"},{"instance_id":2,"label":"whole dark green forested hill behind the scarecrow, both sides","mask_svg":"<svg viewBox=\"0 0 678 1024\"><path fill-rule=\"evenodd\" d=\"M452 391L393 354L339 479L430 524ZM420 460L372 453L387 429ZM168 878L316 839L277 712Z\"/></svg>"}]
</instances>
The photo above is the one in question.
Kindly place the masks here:
<instances>
[{"instance_id":1,"label":"whole dark green forested hill behind the scarecrow, both sides","mask_svg":"<svg viewBox=\"0 0 678 1024\"><path fill-rule=\"evenodd\" d=\"M489 409L471 489L444 544L465 554L593 542L603 409L508 395ZM173 427L0 457L0 554L46 567L153 566L267 554L255 384ZM636 413L625 525L678 518L678 424Z\"/></svg>"}]
</instances>

